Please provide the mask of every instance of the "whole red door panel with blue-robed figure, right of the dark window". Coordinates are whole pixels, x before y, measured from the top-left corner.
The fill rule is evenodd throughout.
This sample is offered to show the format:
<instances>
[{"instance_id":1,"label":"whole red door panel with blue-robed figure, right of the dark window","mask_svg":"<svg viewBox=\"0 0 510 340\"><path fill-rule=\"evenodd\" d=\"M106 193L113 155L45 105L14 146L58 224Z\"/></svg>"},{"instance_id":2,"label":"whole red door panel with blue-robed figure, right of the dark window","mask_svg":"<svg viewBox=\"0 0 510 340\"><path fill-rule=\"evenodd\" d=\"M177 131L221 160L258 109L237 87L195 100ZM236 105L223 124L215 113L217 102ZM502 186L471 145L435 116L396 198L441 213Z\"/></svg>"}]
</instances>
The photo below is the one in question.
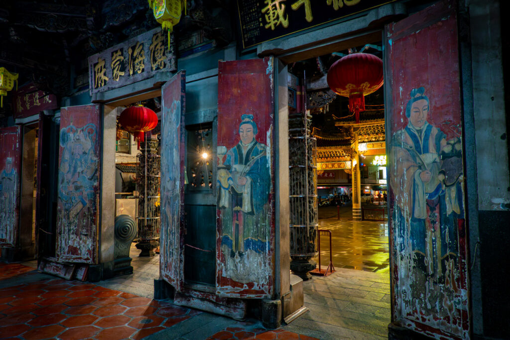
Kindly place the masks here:
<instances>
[{"instance_id":1,"label":"whole red door panel with blue-robed figure, right of the dark window","mask_svg":"<svg viewBox=\"0 0 510 340\"><path fill-rule=\"evenodd\" d=\"M216 290L270 298L274 291L273 59L218 66Z\"/></svg>"}]
</instances>

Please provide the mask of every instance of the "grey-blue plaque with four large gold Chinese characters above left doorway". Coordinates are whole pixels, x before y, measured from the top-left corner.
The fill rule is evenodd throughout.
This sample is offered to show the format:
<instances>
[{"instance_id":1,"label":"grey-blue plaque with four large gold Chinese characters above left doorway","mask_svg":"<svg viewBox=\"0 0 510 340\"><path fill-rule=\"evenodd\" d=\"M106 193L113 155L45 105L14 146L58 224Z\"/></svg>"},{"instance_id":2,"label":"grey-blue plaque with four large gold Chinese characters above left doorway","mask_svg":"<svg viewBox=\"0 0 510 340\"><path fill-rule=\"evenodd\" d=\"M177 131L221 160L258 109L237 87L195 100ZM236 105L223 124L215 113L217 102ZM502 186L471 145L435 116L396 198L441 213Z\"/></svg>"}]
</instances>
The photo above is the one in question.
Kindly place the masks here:
<instances>
[{"instance_id":1,"label":"grey-blue plaque with four large gold Chinese characters above left doorway","mask_svg":"<svg viewBox=\"0 0 510 340\"><path fill-rule=\"evenodd\" d=\"M89 92L108 91L150 78L156 72L175 71L173 35L154 29L89 57Z\"/></svg>"}]
</instances>

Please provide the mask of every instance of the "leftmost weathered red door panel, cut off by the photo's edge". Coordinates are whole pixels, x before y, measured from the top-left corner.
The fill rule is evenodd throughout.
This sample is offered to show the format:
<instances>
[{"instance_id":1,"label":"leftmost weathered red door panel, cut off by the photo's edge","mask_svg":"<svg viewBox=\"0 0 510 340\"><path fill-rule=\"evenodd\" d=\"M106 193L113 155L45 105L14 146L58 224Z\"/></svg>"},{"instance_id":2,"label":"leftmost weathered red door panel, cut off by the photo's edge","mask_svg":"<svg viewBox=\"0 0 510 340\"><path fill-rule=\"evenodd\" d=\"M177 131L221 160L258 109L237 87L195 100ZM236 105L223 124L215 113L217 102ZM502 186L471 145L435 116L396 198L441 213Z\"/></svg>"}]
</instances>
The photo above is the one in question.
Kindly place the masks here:
<instances>
[{"instance_id":1,"label":"leftmost weathered red door panel, cut off by the photo's edge","mask_svg":"<svg viewBox=\"0 0 510 340\"><path fill-rule=\"evenodd\" d=\"M17 247L21 127L0 129L0 246Z\"/></svg>"}]
</instances>

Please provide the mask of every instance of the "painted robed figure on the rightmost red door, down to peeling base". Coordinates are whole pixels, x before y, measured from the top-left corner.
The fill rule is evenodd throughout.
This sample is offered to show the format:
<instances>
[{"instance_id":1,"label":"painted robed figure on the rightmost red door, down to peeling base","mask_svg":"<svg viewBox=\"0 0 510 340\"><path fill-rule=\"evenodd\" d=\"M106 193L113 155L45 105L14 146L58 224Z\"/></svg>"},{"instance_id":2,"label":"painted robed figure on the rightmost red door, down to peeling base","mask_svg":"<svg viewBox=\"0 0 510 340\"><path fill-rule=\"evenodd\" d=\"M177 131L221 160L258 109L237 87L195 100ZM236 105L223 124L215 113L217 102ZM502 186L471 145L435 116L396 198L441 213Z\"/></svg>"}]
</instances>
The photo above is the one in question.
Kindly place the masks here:
<instances>
[{"instance_id":1,"label":"painted robed figure on the rightmost red door, down to peeling base","mask_svg":"<svg viewBox=\"0 0 510 340\"><path fill-rule=\"evenodd\" d=\"M462 308L455 301L463 294L465 271L459 253L459 234L464 233L461 131L449 121L441 127L427 121L434 106L424 87L412 89L402 107L407 124L391 138L390 185L395 260L401 275L411 278L409 286L400 287L409 297L404 309L452 320Z\"/></svg>"}]
</instances>

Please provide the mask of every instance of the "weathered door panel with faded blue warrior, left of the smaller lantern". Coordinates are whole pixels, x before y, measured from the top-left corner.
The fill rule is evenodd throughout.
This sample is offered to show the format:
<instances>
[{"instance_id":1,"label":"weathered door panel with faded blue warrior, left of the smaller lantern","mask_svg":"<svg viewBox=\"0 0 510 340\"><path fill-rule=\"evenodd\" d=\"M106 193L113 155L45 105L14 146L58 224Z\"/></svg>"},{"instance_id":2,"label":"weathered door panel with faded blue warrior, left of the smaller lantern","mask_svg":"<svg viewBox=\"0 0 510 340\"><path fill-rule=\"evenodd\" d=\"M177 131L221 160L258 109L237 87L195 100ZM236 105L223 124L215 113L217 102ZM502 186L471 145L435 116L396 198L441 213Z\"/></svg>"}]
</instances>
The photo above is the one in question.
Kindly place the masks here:
<instances>
[{"instance_id":1,"label":"weathered door panel with faded blue warrior, left of the smaller lantern","mask_svg":"<svg viewBox=\"0 0 510 340\"><path fill-rule=\"evenodd\" d=\"M60 112L57 259L97 262L101 115L99 106Z\"/></svg>"}]
</instances>

